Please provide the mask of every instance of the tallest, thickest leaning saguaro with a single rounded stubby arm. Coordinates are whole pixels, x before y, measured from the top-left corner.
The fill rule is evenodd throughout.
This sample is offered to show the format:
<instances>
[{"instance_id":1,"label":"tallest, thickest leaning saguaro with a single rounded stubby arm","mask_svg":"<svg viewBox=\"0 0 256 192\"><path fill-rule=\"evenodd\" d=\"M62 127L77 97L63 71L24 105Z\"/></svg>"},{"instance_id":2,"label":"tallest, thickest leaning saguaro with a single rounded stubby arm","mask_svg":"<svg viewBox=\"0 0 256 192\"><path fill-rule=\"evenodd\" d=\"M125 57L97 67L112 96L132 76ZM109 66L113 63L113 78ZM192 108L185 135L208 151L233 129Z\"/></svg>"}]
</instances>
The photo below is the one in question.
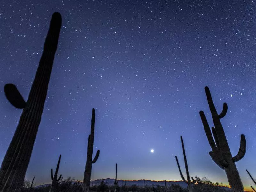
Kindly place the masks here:
<instances>
[{"instance_id":1,"label":"tallest, thickest leaning saguaro with a single rounded stubby arm","mask_svg":"<svg viewBox=\"0 0 256 192\"><path fill-rule=\"evenodd\" d=\"M4 92L9 102L23 111L1 165L0 192L20 191L23 185L43 113L60 28L61 15L55 12L52 15L43 54L27 102L15 85L6 84L4 86Z\"/></svg>"}]
</instances>

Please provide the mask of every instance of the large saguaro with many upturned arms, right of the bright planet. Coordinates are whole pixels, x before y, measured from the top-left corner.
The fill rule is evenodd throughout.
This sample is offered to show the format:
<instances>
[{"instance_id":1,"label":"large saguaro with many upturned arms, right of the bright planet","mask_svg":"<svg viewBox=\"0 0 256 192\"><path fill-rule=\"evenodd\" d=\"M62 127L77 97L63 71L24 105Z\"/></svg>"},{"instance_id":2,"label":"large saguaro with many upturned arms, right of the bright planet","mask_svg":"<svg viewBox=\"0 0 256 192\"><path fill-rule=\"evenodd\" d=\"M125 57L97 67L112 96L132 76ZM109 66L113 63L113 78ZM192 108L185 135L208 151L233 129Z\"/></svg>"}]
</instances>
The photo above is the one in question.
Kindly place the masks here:
<instances>
[{"instance_id":1,"label":"large saguaro with many upturned arms, right of the bright planet","mask_svg":"<svg viewBox=\"0 0 256 192\"><path fill-rule=\"evenodd\" d=\"M228 141L225 136L225 132L220 122L220 119L223 118L228 111L228 105L227 103L224 103L222 112L218 114L213 104L212 96L208 87L205 87L205 93L215 126L212 127L211 132L204 112L200 111L200 117L204 125L204 131L206 133L208 142L212 148L212 151L209 152L209 155L212 157L212 160L226 172L228 183L232 188L233 192L244 192L244 187L237 171L235 162L242 159L245 155L245 136L241 135L239 151L236 156L232 157L228 146Z\"/></svg>"}]
</instances>

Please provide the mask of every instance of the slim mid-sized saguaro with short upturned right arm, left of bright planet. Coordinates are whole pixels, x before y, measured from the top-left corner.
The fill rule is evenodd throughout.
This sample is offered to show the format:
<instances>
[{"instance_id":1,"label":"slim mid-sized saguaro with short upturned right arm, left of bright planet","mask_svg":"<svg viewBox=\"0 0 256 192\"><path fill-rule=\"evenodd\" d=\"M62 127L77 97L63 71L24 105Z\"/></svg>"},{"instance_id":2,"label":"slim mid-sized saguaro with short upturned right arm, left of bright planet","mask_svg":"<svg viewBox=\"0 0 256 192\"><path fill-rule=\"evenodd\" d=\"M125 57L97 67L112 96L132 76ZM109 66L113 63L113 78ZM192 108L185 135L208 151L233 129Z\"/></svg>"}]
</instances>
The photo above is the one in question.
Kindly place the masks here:
<instances>
[{"instance_id":1,"label":"slim mid-sized saguaro with short upturned right arm, left of bright planet","mask_svg":"<svg viewBox=\"0 0 256 192\"><path fill-rule=\"evenodd\" d=\"M85 164L84 180L83 180L83 192L89 192L90 180L91 180L91 174L92 174L92 164L97 161L100 155L100 150L97 150L96 156L92 160L93 143L94 143L94 125L95 125L95 110L92 109L91 134L88 137L87 159Z\"/></svg>"}]
</instances>

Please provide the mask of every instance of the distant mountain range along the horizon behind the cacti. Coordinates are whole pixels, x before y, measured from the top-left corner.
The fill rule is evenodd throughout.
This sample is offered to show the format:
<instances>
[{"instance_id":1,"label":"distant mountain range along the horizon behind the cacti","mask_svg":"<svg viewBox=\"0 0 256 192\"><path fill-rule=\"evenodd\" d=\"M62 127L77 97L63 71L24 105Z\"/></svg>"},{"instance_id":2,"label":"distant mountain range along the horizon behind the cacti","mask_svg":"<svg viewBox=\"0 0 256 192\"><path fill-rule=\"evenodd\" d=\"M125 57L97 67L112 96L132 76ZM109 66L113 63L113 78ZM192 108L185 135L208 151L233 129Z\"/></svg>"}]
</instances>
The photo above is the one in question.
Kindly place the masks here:
<instances>
[{"instance_id":1,"label":"distant mountain range along the horizon behind the cacti","mask_svg":"<svg viewBox=\"0 0 256 192\"><path fill-rule=\"evenodd\" d=\"M110 179L110 178L107 178L107 179L97 179L97 180L94 180L94 181L91 181L91 184L90 186L94 186L94 185L100 185L100 182L104 180L105 183L109 186L112 186L114 185L114 179ZM132 180L132 181L128 181L128 180L117 180L118 181L118 185L119 186L122 186L126 183L127 186L131 186L131 185L138 185L140 187L143 187L144 186L144 180ZM75 183L75 182L73 182ZM82 184L82 182L81 182ZM154 186L157 186L157 185L161 185L161 186L165 186L165 183L164 181L151 181L151 180L146 180L146 185L148 185L149 187L151 187L152 185ZM166 181L166 185L167 186L170 186L170 185L180 185L182 188L187 188L187 184L184 183L183 181ZM48 186L50 184L44 184L43 186ZM40 188L42 187L42 185L39 185L39 186L36 186L35 188ZM228 188L228 187L225 187L225 186L221 186L220 188L222 189L225 189L227 192L231 192L231 189ZM249 192L249 191L245 191L245 192Z\"/></svg>"}]
</instances>

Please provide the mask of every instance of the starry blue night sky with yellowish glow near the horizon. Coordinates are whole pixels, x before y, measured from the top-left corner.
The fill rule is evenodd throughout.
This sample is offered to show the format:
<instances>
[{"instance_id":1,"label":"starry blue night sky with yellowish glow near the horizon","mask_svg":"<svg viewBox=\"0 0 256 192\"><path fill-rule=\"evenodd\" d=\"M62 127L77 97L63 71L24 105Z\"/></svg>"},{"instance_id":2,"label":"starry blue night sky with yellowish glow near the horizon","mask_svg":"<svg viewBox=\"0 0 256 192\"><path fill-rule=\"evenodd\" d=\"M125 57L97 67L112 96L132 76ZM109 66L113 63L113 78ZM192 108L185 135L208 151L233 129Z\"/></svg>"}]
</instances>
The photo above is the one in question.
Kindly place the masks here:
<instances>
[{"instance_id":1,"label":"starry blue night sky with yellowish glow near the horizon","mask_svg":"<svg viewBox=\"0 0 256 192\"><path fill-rule=\"evenodd\" d=\"M0 162L22 110L4 95L13 83L24 99L34 80L53 12L62 28L44 112L26 178L51 181L59 174L83 180L95 108L91 180L181 180L183 137L191 176L228 184L213 162L203 110L212 116L208 86L233 156L246 137L246 154L236 163L245 189L256 178L256 4L237 1L26 0L0 6ZM154 152L151 153L151 149Z\"/></svg>"}]
</instances>

